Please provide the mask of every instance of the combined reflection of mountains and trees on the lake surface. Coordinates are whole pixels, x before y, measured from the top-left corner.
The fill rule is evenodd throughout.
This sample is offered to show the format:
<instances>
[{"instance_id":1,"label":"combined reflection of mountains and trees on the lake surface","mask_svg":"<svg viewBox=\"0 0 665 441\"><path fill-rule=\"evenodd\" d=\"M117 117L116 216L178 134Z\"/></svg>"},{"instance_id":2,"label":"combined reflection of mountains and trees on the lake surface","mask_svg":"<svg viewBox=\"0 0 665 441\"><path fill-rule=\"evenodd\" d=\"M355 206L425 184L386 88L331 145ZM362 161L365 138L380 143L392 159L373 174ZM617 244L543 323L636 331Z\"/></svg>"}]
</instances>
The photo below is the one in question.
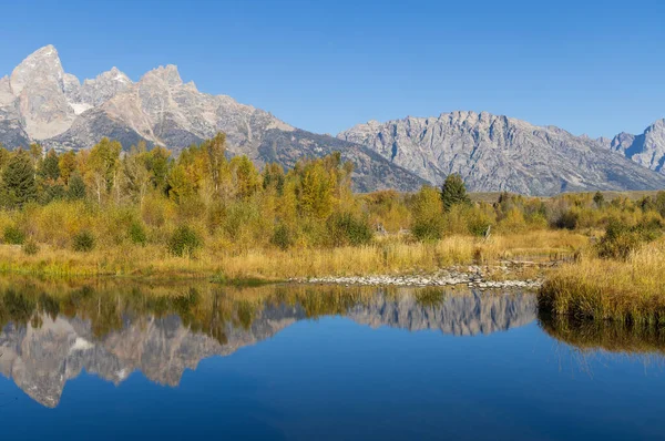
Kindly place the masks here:
<instances>
[{"instance_id":1,"label":"combined reflection of mountains and trees on the lake surface","mask_svg":"<svg viewBox=\"0 0 665 441\"><path fill-rule=\"evenodd\" d=\"M131 372L177 386L185 369L267 339L297 320L352 320L452 335L489 334L532 321L529 294L383 291L263 287L188 288L172 297L136 290L6 290L0 295L0 372L31 398L55 407L82 370L114 383ZM182 294L185 293L185 294Z\"/></svg>"}]
</instances>

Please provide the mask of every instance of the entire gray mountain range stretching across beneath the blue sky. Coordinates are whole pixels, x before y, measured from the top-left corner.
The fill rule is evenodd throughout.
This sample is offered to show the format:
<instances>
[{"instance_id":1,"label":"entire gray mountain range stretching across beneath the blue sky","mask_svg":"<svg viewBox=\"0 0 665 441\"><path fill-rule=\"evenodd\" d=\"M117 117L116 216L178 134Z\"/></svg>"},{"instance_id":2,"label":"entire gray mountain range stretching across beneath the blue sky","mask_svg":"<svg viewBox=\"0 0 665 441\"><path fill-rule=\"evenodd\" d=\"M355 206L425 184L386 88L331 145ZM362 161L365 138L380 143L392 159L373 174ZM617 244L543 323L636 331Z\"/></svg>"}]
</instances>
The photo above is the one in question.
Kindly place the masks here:
<instances>
[{"instance_id":1,"label":"entire gray mountain range stretching across beneath the blue sky","mask_svg":"<svg viewBox=\"0 0 665 441\"><path fill-rule=\"evenodd\" d=\"M273 114L184 83L160 66L133 82L116 68L83 83L44 47L0 79L0 143L89 148L106 136L175 152L226 133L231 154L293 166L340 151L359 191L412 191L460 173L472 191L550 195L566 191L665 188L665 120L641 135L574 136L554 126L489 113L370 121L337 137L296 129Z\"/></svg>"}]
</instances>

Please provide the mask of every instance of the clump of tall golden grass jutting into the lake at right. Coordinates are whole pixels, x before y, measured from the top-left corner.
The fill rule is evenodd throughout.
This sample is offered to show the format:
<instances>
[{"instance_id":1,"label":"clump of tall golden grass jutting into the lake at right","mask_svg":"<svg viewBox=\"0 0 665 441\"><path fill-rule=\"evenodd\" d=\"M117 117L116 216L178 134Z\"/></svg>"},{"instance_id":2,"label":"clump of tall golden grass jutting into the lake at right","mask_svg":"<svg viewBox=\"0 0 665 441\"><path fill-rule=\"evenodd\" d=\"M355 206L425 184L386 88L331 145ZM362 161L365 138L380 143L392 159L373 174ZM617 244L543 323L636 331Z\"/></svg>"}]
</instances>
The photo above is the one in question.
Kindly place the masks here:
<instances>
[{"instance_id":1,"label":"clump of tall golden grass jutting into the lake at right","mask_svg":"<svg viewBox=\"0 0 665 441\"><path fill-rule=\"evenodd\" d=\"M586 257L550 276L539 304L557 315L630 322L665 321L665 240L627 261Z\"/></svg>"}]
</instances>

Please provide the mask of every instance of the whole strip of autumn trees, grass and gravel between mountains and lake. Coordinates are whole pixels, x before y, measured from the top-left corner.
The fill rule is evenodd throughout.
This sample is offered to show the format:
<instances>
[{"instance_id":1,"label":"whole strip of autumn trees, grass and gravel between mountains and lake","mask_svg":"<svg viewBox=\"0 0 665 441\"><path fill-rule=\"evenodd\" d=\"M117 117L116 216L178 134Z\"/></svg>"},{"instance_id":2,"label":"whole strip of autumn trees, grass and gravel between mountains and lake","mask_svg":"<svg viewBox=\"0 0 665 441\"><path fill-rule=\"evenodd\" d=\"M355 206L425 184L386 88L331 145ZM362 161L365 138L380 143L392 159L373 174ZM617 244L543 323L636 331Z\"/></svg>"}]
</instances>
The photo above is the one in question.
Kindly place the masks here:
<instances>
[{"instance_id":1,"label":"whole strip of autumn trees, grass and gravel between mountains and lake","mask_svg":"<svg viewBox=\"0 0 665 441\"><path fill-rule=\"evenodd\" d=\"M227 158L224 134L177 157L111 140L81 152L0 148L0 271L542 284L554 314L663 320L665 192L475 198L453 174L415 194L356 194L352 173L339 154L258 170Z\"/></svg>"}]
</instances>

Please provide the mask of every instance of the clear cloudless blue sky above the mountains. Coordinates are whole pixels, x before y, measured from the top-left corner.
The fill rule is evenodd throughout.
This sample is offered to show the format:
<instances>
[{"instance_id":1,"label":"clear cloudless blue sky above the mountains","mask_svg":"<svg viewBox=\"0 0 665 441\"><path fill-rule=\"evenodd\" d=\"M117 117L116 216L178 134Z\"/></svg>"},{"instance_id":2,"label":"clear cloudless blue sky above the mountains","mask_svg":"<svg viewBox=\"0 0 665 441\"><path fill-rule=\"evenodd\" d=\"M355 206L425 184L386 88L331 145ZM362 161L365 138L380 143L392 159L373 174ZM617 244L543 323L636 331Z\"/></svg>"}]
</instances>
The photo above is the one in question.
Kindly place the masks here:
<instances>
[{"instance_id":1,"label":"clear cloudless blue sky above the mountains","mask_svg":"<svg viewBox=\"0 0 665 441\"><path fill-rule=\"evenodd\" d=\"M575 134L665 116L665 1L12 1L0 75L54 44L68 72L177 64L203 92L337 133L489 111Z\"/></svg>"}]
</instances>

